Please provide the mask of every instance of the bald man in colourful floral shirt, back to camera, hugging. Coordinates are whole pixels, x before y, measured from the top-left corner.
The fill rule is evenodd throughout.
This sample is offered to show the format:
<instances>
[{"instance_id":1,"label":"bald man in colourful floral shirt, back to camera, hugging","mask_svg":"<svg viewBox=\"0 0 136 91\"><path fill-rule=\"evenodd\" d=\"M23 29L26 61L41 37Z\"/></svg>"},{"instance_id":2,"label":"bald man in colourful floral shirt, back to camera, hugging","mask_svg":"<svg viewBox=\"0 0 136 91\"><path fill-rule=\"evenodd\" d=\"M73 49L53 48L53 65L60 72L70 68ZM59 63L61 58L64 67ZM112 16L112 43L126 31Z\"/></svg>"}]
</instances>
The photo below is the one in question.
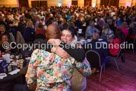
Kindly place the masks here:
<instances>
[{"instance_id":1,"label":"bald man in colourful floral shirt, back to camera, hugging","mask_svg":"<svg viewBox=\"0 0 136 91\"><path fill-rule=\"evenodd\" d=\"M52 49L53 53L41 49L36 49L32 53L26 74L27 86L30 89L36 87L36 91L71 91L70 80L74 63L75 67L84 75L88 76L91 74L89 63L86 62L86 60L84 60L84 65L82 65L82 63L78 63L72 57L65 59L54 54L57 50L61 50L57 44L61 36L60 33L60 29L57 25L49 25L46 37L50 43L56 43Z\"/></svg>"}]
</instances>

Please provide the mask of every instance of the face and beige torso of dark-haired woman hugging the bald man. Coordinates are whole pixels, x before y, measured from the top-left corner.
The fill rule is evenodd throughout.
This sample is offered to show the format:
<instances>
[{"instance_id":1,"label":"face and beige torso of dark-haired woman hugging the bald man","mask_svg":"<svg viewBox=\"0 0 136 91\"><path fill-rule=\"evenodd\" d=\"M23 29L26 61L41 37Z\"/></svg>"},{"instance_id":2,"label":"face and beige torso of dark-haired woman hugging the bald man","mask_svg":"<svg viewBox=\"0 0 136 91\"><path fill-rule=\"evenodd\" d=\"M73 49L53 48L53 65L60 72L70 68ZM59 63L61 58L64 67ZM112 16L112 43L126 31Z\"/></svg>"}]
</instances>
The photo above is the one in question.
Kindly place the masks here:
<instances>
[{"instance_id":1,"label":"face and beige torso of dark-haired woman hugging the bald man","mask_svg":"<svg viewBox=\"0 0 136 91\"><path fill-rule=\"evenodd\" d=\"M77 44L77 38L74 35L74 31L69 27L62 31L61 40L67 44L71 44L72 46L75 46ZM71 86L73 91L84 91L87 86L86 77L82 76L82 74L79 73L76 68L73 72Z\"/></svg>"}]
</instances>

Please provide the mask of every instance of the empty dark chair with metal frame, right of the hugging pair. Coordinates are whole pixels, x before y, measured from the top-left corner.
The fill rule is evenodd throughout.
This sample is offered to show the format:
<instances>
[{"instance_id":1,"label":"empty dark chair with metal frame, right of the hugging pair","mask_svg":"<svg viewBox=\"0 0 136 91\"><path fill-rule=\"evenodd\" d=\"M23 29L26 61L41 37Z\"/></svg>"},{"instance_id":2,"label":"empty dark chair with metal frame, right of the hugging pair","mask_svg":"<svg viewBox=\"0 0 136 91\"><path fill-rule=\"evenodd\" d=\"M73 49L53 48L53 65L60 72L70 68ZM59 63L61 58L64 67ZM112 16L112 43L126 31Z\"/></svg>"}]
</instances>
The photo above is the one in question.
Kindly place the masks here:
<instances>
[{"instance_id":1,"label":"empty dark chair with metal frame, right of the hugging pair","mask_svg":"<svg viewBox=\"0 0 136 91\"><path fill-rule=\"evenodd\" d=\"M101 82L102 70L105 67L106 62L101 64L101 59L100 59L99 53L96 51L93 51L93 50L89 50L86 53L86 58L90 62L91 67L100 68L99 82Z\"/></svg>"}]
</instances>

